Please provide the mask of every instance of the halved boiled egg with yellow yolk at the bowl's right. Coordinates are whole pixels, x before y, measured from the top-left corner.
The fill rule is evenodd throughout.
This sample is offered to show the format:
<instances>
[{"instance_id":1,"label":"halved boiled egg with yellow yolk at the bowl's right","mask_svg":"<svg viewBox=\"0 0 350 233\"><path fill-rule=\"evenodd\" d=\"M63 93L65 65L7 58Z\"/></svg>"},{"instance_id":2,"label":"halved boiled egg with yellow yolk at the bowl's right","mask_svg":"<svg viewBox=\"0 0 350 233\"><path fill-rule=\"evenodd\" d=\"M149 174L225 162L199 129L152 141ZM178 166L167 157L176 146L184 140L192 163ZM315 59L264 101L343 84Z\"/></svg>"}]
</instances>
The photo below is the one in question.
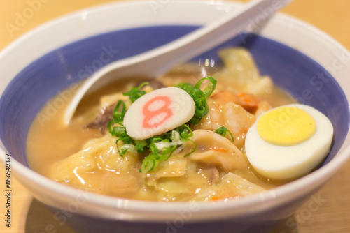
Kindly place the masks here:
<instances>
[{"instance_id":1,"label":"halved boiled egg with yellow yolk at the bowl's right","mask_svg":"<svg viewBox=\"0 0 350 233\"><path fill-rule=\"evenodd\" d=\"M293 179L321 163L332 137L332 123L314 107L283 105L261 114L249 128L246 156L262 176Z\"/></svg>"}]
</instances>

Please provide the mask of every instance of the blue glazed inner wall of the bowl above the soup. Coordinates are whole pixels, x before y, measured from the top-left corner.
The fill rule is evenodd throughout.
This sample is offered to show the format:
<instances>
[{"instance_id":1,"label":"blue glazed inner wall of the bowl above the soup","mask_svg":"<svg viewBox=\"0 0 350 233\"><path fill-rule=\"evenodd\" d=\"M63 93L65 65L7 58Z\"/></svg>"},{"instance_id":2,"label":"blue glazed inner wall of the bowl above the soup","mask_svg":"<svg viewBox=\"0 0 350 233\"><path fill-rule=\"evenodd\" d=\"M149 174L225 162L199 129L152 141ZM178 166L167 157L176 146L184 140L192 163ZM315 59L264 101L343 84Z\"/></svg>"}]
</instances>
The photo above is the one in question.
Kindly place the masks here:
<instances>
[{"instance_id":1,"label":"blue glazed inner wall of the bowl above the soup","mask_svg":"<svg viewBox=\"0 0 350 233\"><path fill-rule=\"evenodd\" d=\"M158 47L195 29L197 26L169 25L112 31L78 40L36 59L14 77L0 99L0 138L6 150L28 166L27 132L50 98L111 61ZM218 48L228 46L246 47L262 75L272 77L300 103L328 116L335 137L323 165L332 160L345 140L350 117L346 97L330 73L301 52L262 36L240 35ZM219 64L218 48L193 60L214 59ZM60 108L61 104L53 103L52 114Z\"/></svg>"}]
</instances>

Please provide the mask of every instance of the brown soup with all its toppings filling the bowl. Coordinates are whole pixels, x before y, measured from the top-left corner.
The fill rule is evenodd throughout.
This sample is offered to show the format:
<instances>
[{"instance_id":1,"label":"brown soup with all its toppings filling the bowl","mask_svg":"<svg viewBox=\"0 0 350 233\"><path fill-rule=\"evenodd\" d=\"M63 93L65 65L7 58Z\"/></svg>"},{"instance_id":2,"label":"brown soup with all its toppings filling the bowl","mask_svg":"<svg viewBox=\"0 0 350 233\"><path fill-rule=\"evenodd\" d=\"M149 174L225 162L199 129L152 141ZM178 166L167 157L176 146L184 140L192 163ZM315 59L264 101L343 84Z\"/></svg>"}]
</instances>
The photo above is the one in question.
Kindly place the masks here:
<instances>
[{"instance_id":1,"label":"brown soup with all its toppings filling the bowl","mask_svg":"<svg viewBox=\"0 0 350 233\"><path fill-rule=\"evenodd\" d=\"M314 170L329 150L326 143L321 156L311 151L307 160L313 162L304 163L299 155L304 153L274 156L273 148L258 147L255 136L286 151L316 135L316 117L295 111L296 105L290 105L295 100L260 76L246 50L229 48L219 55L223 67L216 71L186 64L155 80L135 77L109 84L83 100L68 126L64 108L46 116L55 100L62 101L57 95L29 130L30 167L94 193L165 202L244 197ZM272 110L282 105L289 107L276 110L282 114L276 117ZM290 112L301 120L288 120ZM265 113L268 119L276 117L267 129L264 119L257 122ZM297 128L299 121L306 122L301 128L307 130L284 139L285 126ZM256 135L248 132L254 124ZM282 135L274 135L279 131ZM248 135L249 146L261 153L248 153Z\"/></svg>"}]
</instances>

